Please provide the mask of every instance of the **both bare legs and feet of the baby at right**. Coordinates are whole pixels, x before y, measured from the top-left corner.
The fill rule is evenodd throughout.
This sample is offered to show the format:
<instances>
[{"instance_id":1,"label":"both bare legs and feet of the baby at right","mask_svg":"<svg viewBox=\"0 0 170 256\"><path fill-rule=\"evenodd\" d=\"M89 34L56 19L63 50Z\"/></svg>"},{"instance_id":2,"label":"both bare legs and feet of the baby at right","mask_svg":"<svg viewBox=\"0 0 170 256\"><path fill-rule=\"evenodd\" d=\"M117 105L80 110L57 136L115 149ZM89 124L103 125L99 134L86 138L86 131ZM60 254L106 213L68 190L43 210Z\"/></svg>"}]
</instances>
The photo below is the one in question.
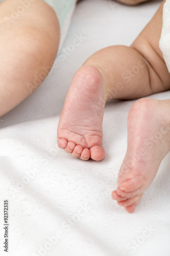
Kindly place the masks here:
<instances>
[{"instance_id":1,"label":"both bare legs and feet of the baby at right","mask_svg":"<svg viewBox=\"0 0 170 256\"><path fill-rule=\"evenodd\" d=\"M159 49L163 4L130 47L108 47L85 61L72 79L58 125L60 148L82 160L100 161L106 100L141 98L128 115L127 153L112 192L128 212L135 210L170 150L170 100L143 98L170 89Z\"/></svg>"}]
</instances>

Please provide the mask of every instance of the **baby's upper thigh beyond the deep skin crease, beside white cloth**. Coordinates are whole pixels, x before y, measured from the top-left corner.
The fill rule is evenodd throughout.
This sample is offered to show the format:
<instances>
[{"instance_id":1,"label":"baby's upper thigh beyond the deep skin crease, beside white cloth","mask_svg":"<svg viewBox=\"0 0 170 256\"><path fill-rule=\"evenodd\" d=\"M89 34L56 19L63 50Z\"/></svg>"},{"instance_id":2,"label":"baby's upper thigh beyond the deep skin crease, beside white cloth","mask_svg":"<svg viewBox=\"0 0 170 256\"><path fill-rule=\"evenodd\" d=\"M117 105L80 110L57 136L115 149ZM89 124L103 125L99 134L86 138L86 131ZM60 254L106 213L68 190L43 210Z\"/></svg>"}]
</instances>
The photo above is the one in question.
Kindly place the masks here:
<instances>
[{"instance_id":1,"label":"baby's upper thigh beyond the deep skin crease, beside white cloth","mask_svg":"<svg viewBox=\"0 0 170 256\"><path fill-rule=\"evenodd\" d=\"M164 3L165 1L162 2L151 21L131 45L131 48L137 50L137 52L139 52L145 59L148 67L150 89L152 93L170 89L170 74L159 48Z\"/></svg>"}]
</instances>

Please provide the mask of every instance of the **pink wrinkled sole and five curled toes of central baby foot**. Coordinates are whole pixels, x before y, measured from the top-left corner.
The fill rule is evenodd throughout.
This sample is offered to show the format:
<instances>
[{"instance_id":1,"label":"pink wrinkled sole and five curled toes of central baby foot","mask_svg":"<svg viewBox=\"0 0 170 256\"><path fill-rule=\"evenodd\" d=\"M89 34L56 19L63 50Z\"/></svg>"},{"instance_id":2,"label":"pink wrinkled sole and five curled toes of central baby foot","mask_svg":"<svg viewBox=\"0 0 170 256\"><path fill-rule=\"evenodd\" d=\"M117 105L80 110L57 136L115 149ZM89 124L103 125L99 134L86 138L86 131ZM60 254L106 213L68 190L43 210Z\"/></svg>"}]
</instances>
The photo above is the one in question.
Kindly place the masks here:
<instances>
[{"instance_id":1,"label":"pink wrinkled sole and five curled toes of central baby foot","mask_svg":"<svg viewBox=\"0 0 170 256\"><path fill-rule=\"evenodd\" d=\"M98 69L81 67L72 79L57 131L58 146L71 156L96 161L104 158L104 95L103 77Z\"/></svg>"}]
</instances>

